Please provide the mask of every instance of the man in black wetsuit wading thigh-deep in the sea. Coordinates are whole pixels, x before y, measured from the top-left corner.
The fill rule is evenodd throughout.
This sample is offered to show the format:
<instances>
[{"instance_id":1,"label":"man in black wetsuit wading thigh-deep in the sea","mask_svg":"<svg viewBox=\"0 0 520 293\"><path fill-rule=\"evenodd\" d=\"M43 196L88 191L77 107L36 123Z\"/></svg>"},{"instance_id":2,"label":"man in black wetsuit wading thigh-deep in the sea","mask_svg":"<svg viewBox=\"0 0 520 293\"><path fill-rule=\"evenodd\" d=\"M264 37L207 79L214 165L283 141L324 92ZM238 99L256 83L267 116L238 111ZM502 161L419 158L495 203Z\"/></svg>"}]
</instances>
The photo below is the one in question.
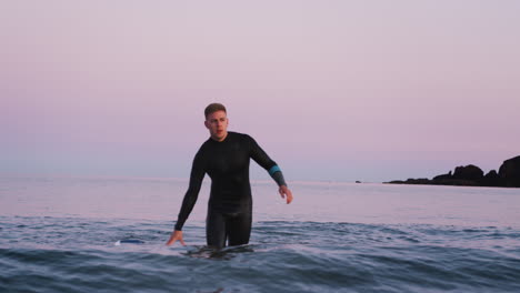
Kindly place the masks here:
<instances>
[{"instance_id":1,"label":"man in black wetsuit wading thigh-deep in the sea","mask_svg":"<svg viewBox=\"0 0 520 293\"><path fill-rule=\"evenodd\" d=\"M197 202L204 174L211 178L211 192L206 220L209 246L223 247L249 243L252 221L252 198L249 183L249 162L253 159L266 169L279 186L279 193L291 203L292 193L274 161L247 134L228 132L226 108L212 103L204 110L204 125L210 138L200 146L193 159L190 183L186 192L176 228L167 245L179 241L182 245L182 226Z\"/></svg>"}]
</instances>

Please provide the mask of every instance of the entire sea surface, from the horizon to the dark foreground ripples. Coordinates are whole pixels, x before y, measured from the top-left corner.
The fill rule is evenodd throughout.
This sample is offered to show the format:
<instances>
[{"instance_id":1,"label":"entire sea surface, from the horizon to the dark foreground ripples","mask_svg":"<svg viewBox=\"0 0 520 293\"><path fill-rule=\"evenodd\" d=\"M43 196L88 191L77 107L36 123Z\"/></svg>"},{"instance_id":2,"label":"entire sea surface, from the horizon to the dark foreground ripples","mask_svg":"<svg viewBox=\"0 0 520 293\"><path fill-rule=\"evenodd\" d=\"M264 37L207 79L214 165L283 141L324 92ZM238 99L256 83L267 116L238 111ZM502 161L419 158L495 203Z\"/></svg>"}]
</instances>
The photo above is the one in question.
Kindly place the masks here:
<instances>
[{"instance_id":1,"label":"entire sea surface, from the horizon to the dark foreground ripples","mask_svg":"<svg viewBox=\"0 0 520 293\"><path fill-rule=\"evenodd\" d=\"M0 292L520 292L520 190L252 184L249 245L204 246L208 184L0 178Z\"/></svg>"}]
</instances>

